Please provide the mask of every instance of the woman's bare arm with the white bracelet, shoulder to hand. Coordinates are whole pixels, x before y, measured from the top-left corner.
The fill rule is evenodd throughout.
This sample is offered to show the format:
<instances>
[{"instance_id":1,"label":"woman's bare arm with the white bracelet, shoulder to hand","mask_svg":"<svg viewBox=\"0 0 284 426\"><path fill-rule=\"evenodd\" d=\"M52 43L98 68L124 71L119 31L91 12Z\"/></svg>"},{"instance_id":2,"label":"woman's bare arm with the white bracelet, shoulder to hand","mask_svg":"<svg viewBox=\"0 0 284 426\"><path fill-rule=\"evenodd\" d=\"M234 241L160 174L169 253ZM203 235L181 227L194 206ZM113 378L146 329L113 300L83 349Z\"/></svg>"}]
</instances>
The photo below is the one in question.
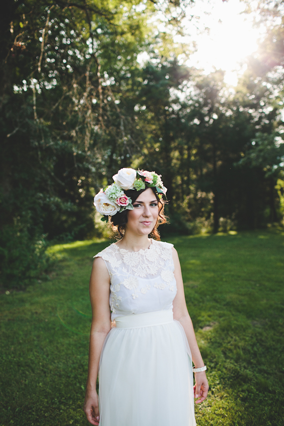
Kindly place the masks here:
<instances>
[{"instance_id":1,"label":"woman's bare arm with the white bracelet, shoulder to hand","mask_svg":"<svg viewBox=\"0 0 284 426\"><path fill-rule=\"evenodd\" d=\"M176 286L177 286L177 293L173 300L173 317L174 319L179 321L184 328L184 331L188 340L188 344L190 347L191 355L192 355L192 361L195 367L196 368L203 367L204 362L202 360L202 356L198 348L192 321L186 307L178 254L174 248L172 249L172 257L173 257L173 263L174 263L174 277L175 277ZM196 401L196 404L205 400L208 394L208 389L209 389L209 386L206 379L205 371L202 371L200 373L195 373L195 398L200 397Z\"/></svg>"}]
</instances>

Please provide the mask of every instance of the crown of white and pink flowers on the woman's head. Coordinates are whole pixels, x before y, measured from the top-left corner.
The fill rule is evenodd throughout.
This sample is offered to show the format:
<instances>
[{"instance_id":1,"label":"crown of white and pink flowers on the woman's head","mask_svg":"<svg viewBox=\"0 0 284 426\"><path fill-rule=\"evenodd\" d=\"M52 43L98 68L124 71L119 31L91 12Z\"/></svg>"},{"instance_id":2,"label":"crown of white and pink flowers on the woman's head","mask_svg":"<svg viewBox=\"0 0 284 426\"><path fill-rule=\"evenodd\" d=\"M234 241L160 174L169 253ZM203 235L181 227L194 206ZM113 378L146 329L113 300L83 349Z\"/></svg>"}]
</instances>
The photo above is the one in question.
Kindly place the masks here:
<instances>
[{"instance_id":1,"label":"crown of white and pink flowers on the woman's head","mask_svg":"<svg viewBox=\"0 0 284 426\"><path fill-rule=\"evenodd\" d=\"M140 191L148 186L155 188L159 198L167 191L167 188L163 186L161 176L154 171L124 167L113 176L113 179L114 183L101 189L94 197L94 206L100 214L104 215L101 220L107 220L106 216L114 216L124 210L133 210L132 199L125 194L124 190Z\"/></svg>"}]
</instances>

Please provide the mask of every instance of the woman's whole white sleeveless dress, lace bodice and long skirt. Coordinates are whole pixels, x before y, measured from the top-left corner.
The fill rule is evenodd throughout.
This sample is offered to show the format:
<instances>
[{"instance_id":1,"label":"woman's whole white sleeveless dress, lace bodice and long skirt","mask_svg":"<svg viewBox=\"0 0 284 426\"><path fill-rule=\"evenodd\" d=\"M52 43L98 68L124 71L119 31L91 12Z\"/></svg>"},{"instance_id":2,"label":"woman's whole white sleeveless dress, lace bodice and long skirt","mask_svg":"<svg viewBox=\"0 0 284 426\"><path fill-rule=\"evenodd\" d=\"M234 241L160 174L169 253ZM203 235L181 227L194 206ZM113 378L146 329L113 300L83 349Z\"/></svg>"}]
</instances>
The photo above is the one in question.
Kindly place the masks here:
<instances>
[{"instance_id":1,"label":"woman's whole white sleeveless dress, lace bodice and long skirt","mask_svg":"<svg viewBox=\"0 0 284 426\"><path fill-rule=\"evenodd\" d=\"M99 366L100 426L195 426L189 345L173 320L172 244L98 253L111 278L113 327Z\"/></svg>"}]
</instances>

